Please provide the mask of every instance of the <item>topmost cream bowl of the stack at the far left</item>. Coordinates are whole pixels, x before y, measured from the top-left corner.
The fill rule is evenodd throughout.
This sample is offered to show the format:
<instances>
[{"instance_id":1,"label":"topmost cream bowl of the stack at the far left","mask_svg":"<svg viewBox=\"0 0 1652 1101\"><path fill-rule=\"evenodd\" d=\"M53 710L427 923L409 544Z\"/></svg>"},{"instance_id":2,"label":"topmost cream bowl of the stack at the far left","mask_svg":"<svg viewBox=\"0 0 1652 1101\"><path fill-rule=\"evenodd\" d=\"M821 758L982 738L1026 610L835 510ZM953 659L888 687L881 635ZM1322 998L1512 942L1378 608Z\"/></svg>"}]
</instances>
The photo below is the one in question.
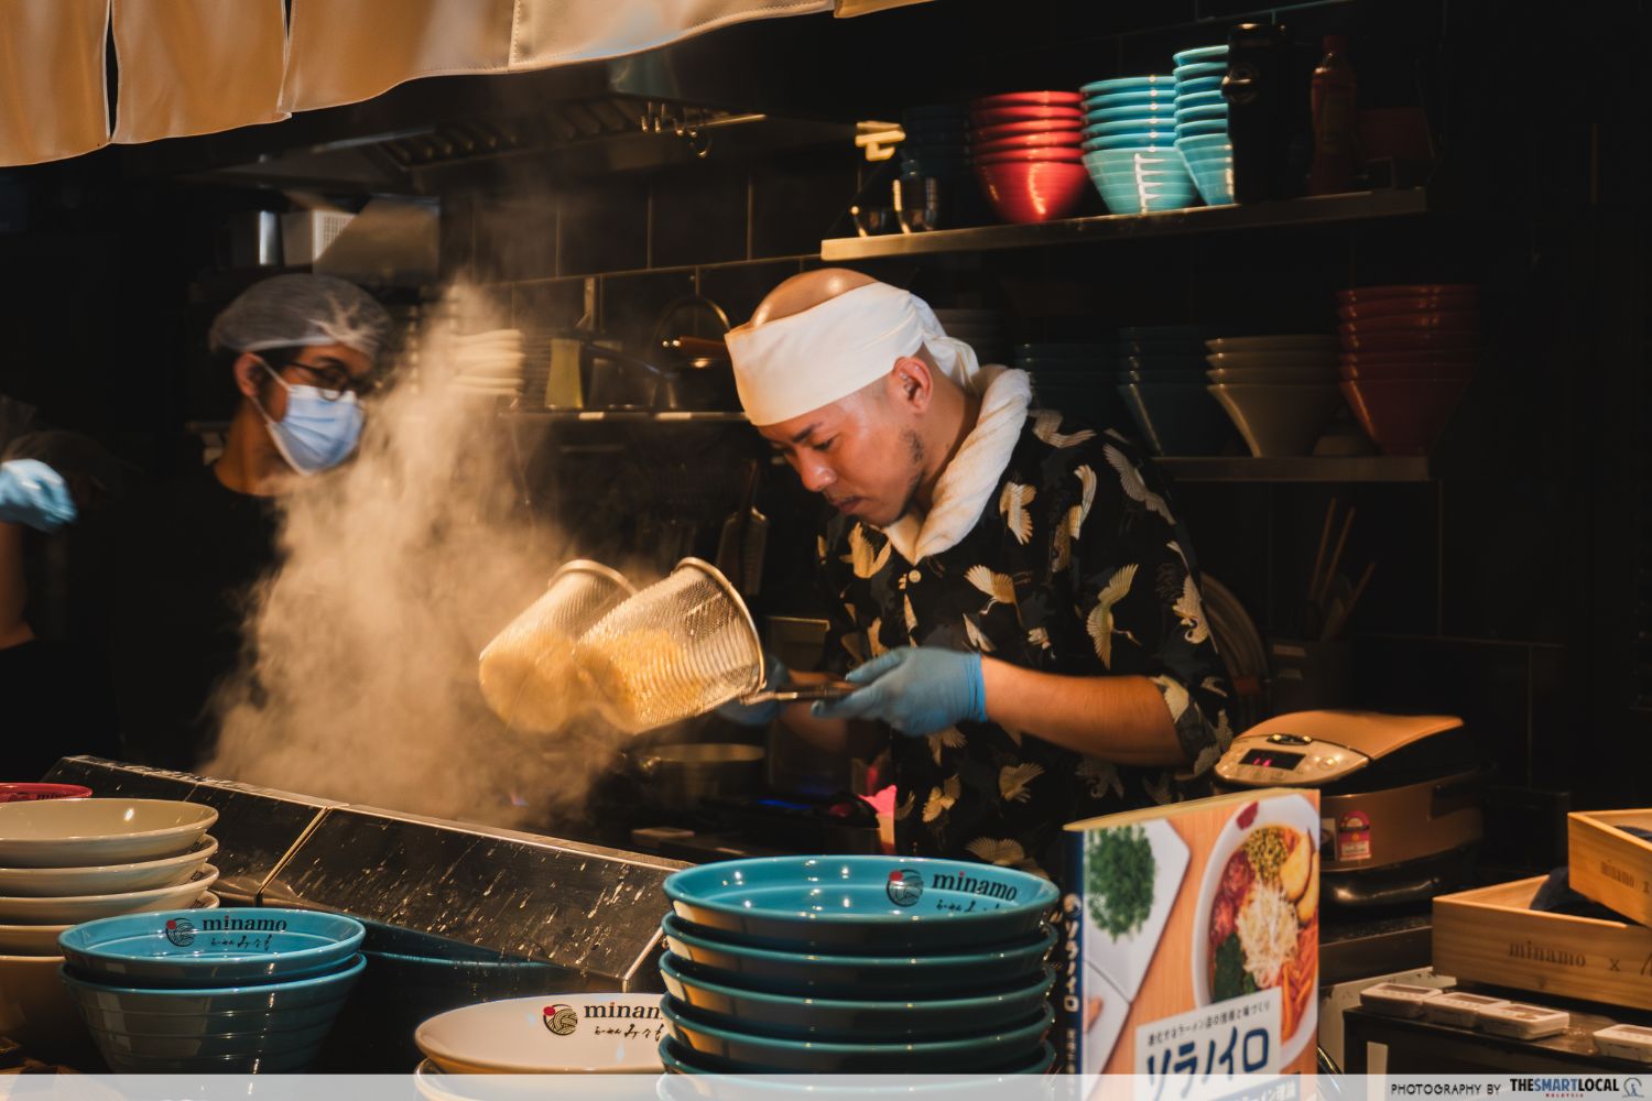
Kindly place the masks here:
<instances>
[{"instance_id":1,"label":"topmost cream bowl of the stack at the far left","mask_svg":"<svg viewBox=\"0 0 1652 1101\"><path fill-rule=\"evenodd\" d=\"M46 799L0 804L0 867L86 868L177 857L218 812L173 799Z\"/></svg>"}]
</instances>

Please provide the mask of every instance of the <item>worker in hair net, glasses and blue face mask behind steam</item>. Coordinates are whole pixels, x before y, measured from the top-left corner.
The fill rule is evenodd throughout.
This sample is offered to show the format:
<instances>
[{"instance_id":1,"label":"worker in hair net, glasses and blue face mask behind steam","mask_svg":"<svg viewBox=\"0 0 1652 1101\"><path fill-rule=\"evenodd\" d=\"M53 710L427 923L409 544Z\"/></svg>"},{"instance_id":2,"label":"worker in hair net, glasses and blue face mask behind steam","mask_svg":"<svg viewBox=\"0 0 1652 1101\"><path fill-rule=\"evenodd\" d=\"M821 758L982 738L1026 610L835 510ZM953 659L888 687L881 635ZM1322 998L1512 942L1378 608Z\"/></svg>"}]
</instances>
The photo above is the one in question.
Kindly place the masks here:
<instances>
[{"instance_id":1,"label":"worker in hair net, glasses and blue face mask behind steam","mask_svg":"<svg viewBox=\"0 0 1652 1101\"><path fill-rule=\"evenodd\" d=\"M129 495L88 535L127 759L192 769L210 753L213 688L278 565L278 502L355 452L388 333L372 295L314 274L264 279L213 320L208 345L240 395L221 457Z\"/></svg>"}]
</instances>

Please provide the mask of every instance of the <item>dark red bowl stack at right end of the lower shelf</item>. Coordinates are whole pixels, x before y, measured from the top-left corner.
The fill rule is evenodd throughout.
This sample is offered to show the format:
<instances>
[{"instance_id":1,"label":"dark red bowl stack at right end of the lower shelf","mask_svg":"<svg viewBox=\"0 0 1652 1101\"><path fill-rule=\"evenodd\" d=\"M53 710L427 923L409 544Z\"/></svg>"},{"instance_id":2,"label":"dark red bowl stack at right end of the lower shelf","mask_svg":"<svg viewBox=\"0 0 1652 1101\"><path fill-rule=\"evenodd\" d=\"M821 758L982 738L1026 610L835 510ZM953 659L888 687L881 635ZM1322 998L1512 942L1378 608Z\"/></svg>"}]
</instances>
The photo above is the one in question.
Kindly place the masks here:
<instances>
[{"instance_id":1,"label":"dark red bowl stack at right end of the lower shelf","mask_svg":"<svg viewBox=\"0 0 1652 1101\"><path fill-rule=\"evenodd\" d=\"M1360 424L1394 456L1422 456L1469 388L1479 360L1474 284L1336 292L1341 388Z\"/></svg>"}]
</instances>

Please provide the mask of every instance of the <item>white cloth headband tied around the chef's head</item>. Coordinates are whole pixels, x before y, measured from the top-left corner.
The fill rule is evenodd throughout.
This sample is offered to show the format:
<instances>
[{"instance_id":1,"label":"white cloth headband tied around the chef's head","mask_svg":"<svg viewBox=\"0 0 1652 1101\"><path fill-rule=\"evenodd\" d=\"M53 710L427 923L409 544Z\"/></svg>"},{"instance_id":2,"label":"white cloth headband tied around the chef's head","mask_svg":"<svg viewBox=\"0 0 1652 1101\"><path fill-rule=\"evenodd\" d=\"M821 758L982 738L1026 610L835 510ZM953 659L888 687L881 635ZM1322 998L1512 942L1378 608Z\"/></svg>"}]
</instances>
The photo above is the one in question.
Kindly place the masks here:
<instances>
[{"instance_id":1,"label":"white cloth headband tied around the chef's head","mask_svg":"<svg viewBox=\"0 0 1652 1101\"><path fill-rule=\"evenodd\" d=\"M887 282L869 282L801 314L729 333L740 404L752 424L780 424L841 401L930 350L943 375L973 386L975 348L953 340L928 304Z\"/></svg>"}]
</instances>

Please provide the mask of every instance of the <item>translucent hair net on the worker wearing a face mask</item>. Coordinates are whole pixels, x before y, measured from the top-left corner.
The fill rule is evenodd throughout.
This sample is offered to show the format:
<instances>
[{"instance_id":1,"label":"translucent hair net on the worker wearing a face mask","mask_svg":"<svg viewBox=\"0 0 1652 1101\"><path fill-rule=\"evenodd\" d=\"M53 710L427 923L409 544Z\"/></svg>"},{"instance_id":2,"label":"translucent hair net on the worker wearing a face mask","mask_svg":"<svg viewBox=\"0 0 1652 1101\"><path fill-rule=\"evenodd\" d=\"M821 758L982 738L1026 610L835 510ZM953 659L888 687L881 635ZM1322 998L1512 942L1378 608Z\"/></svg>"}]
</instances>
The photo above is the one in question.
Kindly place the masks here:
<instances>
[{"instance_id":1,"label":"translucent hair net on the worker wearing a face mask","mask_svg":"<svg viewBox=\"0 0 1652 1101\"><path fill-rule=\"evenodd\" d=\"M213 350L261 352L286 345L342 343L377 360L390 335L385 307L354 282L332 276L276 276L253 284L211 324Z\"/></svg>"}]
</instances>

